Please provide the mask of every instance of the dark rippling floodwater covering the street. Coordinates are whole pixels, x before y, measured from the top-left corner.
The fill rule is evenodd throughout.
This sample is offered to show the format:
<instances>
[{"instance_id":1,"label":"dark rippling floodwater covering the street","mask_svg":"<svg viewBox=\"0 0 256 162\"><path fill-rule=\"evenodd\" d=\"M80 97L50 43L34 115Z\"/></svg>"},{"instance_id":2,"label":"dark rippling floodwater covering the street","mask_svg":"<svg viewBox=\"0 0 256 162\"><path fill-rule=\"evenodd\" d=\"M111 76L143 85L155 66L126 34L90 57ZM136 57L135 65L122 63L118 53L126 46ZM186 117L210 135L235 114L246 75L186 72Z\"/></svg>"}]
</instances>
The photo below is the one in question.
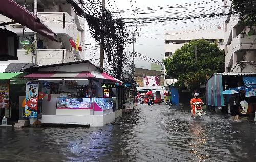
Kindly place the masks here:
<instances>
[{"instance_id":1,"label":"dark rippling floodwater covering the street","mask_svg":"<svg viewBox=\"0 0 256 162\"><path fill-rule=\"evenodd\" d=\"M100 128L0 128L0 161L256 161L256 125L138 105Z\"/></svg>"}]
</instances>

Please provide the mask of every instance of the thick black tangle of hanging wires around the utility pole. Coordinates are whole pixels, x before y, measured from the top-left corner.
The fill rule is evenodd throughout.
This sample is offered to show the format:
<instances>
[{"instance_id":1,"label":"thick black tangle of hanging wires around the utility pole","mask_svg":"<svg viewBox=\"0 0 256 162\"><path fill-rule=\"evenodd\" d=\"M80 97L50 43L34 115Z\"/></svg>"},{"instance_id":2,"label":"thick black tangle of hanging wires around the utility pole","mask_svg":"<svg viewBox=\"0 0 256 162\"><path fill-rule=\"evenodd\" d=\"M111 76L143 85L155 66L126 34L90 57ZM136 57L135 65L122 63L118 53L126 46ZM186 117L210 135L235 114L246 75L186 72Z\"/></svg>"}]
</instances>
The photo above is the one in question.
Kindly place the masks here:
<instances>
[{"instance_id":1,"label":"thick black tangle of hanging wires around the utility pole","mask_svg":"<svg viewBox=\"0 0 256 162\"><path fill-rule=\"evenodd\" d=\"M85 17L89 26L90 34L99 44L104 44L104 50L106 52L106 59L108 64L112 66L112 73L116 78L120 79L123 67L123 51L126 43L131 42L129 35L126 32L125 23L121 18L114 19L111 12L105 8L97 8L92 1L89 1L94 14L88 11L79 0L81 6L73 0L67 0L75 9L77 15ZM102 14L99 14L101 13ZM108 70L109 72L109 70Z\"/></svg>"}]
</instances>

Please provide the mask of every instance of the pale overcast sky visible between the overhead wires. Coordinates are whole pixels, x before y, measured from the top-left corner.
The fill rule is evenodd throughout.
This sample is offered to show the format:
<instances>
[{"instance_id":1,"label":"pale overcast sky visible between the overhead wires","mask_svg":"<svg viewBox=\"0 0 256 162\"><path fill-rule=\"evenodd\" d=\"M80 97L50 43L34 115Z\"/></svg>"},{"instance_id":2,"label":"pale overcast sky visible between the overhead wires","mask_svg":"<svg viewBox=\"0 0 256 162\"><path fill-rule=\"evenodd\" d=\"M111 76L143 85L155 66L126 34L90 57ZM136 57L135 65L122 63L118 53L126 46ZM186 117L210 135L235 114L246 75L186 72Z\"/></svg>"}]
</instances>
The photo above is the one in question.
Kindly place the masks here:
<instances>
[{"instance_id":1,"label":"pale overcast sky visible between the overhead wires","mask_svg":"<svg viewBox=\"0 0 256 162\"><path fill-rule=\"evenodd\" d=\"M100 0L101 1L101 0ZM205 7L205 6L212 6L212 5L222 5L224 4L224 1L221 0L212 0L212 1L216 1L217 3L215 4L200 4L197 7ZM166 6L166 5L176 5L176 4L187 4L187 3L191 3L191 2L197 2L197 3L204 3L207 1L205 0L158 0L158 1L153 1L153 0L149 0L149 1L145 1L145 0L109 0L109 2L112 4L112 7L119 11L127 11L127 10L131 10L132 9L132 5L133 8L136 10L140 9L140 8L145 8L145 7L156 7L156 6ZM131 5L132 2L132 5ZM116 3L116 5L115 5ZM117 7L116 7L117 6ZM215 6L212 6L212 8L214 9ZM108 0L106 0L106 7L110 9L110 6L108 4ZM195 6L187 6L187 7L183 7L181 9L179 8L173 8L173 9L168 9L168 10L172 10L175 11L177 13L177 15L179 15L179 11L184 13L187 12L187 15L193 15L194 11L191 11L195 9ZM211 9L211 8L210 8ZM163 9L164 10L164 9ZM165 9L166 10L166 9ZM187 10L187 11L186 11ZM201 10L201 8L196 8L196 10ZM214 9L217 10L217 9ZM219 9L221 10L221 9ZM153 10L152 10L153 11ZM154 12L159 12L159 10L155 10ZM212 12L212 11L211 11ZM120 16L120 15L118 15ZM151 14L121 14L122 18L133 18L133 17L138 17L138 18L143 18L143 17L151 17L151 16L158 16L158 15L151 15ZM159 16L168 16L168 14L166 15L159 15ZM172 15L169 15L172 16ZM196 22L193 22L197 20ZM212 25L212 24L224 24L224 20L223 19L214 19L214 20L203 20L202 22L198 22L200 21L200 19L193 19L193 20L186 20L186 21L173 21L173 22L168 22L160 25L147 25L147 26L142 26L141 24L137 23L137 28L141 29L139 33L139 36L137 35L136 38L136 43L135 43L135 51L146 55L148 57L157 59L157 60L163 60L164 58L164 48L166 46L166 44L164 44L164 38L165 38L165 33L167 32L172 32L172 31L187 31L188 29L198 29L198 25L202 25L207 27L207 25ZM128 28L132 31L134 31L136 29L136 27L131 27L131 24L127 24ZM126 47L126 51L132 51L132 45L129 45ZM96 53L96 56L94 56L94 58L97 58L98 54ZM135 58L135 65L136 67L140 67L140 68L145 68L145 69L150 69L150 63L146 62L144 60Z\"/></svg>"}]
</instances>

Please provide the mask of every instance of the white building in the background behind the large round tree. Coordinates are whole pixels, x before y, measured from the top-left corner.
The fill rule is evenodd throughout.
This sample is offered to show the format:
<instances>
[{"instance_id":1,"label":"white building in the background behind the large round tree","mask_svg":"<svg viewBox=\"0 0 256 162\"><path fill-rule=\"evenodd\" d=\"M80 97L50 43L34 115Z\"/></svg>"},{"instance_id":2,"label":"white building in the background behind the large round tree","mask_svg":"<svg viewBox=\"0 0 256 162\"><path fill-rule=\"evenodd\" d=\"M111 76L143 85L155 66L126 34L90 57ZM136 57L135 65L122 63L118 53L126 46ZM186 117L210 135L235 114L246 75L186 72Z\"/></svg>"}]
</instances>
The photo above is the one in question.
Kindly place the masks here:
<instances>
[{"instance_id":1,"label":"white building in the background behind the large round tree","mask_svg":"<svg viewBox=\"0 0 256 162\"><path fill-rule=\"evenodd\" d=\"M205 39L211 43L217 43L220 49L224 49L224 28L221 24L205 26L198 26L198 29L188 29L188 30L176 30L167 31L165 38L165 56L164 59L172 57L177 49L180 49L185 43L191 40ZM165 74L165 85L177 82L177 80Z\"/></svg>"}]
</instances>

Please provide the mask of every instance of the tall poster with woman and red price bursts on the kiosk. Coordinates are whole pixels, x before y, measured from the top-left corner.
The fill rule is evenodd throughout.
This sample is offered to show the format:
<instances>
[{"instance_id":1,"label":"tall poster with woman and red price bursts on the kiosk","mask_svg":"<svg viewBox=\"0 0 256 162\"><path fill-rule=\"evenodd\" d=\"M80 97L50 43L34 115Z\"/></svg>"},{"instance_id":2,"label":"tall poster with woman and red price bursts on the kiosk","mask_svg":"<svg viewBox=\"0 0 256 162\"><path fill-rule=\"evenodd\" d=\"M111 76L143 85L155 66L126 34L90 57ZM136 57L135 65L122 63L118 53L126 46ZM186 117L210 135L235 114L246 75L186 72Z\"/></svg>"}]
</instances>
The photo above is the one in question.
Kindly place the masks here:
<instances>
[{"instance_id":1,"label":"tall poster with woman and red price bursts on the kiosk","mask_svg":"<svg viewBox=\"0 0 256 162\"><path fill-rule=\"evenodd\" d=\"M39 82L27 82L26 84L26 104L24 116L37 118Z\"/></svg>"}]
</instances>

